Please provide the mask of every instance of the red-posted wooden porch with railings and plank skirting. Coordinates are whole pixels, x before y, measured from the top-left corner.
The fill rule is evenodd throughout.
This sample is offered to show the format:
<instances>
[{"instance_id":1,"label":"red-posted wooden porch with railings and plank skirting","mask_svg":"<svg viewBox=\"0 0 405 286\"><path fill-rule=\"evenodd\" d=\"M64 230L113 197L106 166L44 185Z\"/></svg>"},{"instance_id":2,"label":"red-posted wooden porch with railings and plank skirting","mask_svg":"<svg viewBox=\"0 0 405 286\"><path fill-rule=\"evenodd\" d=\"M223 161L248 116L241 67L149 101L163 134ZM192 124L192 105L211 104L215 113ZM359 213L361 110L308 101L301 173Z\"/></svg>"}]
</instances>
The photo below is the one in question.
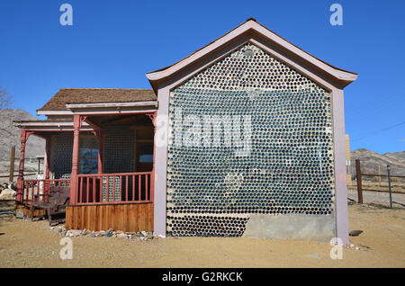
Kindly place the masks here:
<instances>
[{"instance_id":1,"label":"red-posted wooden porch with railings and plank skirting","mask_svg":"<svg viewBox=\"0 0 405 286\"><path fill-rule=\"evenodd\" d=\"M49 194L50 188L56 186L68 187L70 197L66 209L67 229L86 228L99 231L113 228L126 232L153 231L155 158L153 151L150 155L148 152L153 150L154 146L155 114L150 112L125 115L97 113L92 116L80 114L73 116L73 129L22 130L16 201L29 207L34 200L35 202L48 200L48 196L36 196L37 194ZM141 118L141 121L147 125L139 124L139 117L141 117L139 115L145 117L145 119ZM84 123L87 123L87 128L82 130ZM122 127L128 131L118 134L117 128ZM73 140L70 141L72 150L70 165L61 163L58 152L53 152L54 154L51 152L52 148L55 148L53 146L55 142L52 143L51 140L52 136L62 134L61 131L65 131L63 134L68 134L67 131L70 131L70 134L73 133ZM108 139L109 132L112 132L111 139ZM134 138L132 138L133 134L135 134ZM148 134L151 134L151 138ZM30 135L40 136L47 142L44 179L24 180L23 178L24 148ZM120 136L125 137L123 141L121 140L122 142ZM98 140L98 143L90 142L94 139ZM66 139L60 141L65 144ZM133 142L132 145L127 141ZM117 144L125 146L124 154L118 157L109 153L114 150L114 147L119 147ZM128 144L130 147L126 146ZM52 169L51 157L58 164L54 164L54 170L49 170ZM120 158L124 161L120 161ZM71 167L71 172L65 171L67 165ZM112 171L112 173L104 174L103 171ZM122 171L124 173L119 173ZM58 178L55 178L55 174Z\"/></svg>"}]
</instances>

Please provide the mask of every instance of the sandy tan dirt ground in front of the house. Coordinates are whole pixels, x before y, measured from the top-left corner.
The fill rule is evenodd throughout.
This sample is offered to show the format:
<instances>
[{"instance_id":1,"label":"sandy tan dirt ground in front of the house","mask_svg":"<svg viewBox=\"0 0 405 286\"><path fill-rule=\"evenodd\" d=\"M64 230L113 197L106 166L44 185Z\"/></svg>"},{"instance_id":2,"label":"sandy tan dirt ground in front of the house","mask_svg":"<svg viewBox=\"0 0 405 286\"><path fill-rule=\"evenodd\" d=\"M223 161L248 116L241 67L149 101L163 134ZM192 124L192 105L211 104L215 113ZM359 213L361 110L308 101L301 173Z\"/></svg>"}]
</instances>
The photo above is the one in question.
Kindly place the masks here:
<instances>
[{"instance_id":1,"label":"sandy tan dirt ground in front of the house","mask_svg":"<svg viewBox=\"0 0 405 286\"><path fill-rule=\"evenodd\" d=\"M62 260L47 222L1 219L0 267L405 267L404 208L349 205L349 219L364 233L341 260L325 242L216 237L73 237L73 259Z\"/></svg>"}]
</instances>

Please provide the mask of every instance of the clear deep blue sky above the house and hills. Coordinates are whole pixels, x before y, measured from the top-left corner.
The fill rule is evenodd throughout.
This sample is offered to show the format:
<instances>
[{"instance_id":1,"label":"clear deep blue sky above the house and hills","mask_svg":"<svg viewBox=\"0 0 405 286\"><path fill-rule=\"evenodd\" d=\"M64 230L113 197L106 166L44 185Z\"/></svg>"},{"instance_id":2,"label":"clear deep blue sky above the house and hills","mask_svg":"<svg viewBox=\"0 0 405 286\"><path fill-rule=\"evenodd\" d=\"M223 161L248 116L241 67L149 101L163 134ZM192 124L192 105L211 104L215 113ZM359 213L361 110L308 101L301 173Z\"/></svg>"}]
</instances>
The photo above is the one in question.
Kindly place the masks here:
<instances>
[{"instance_id":1,"label":"clear deep blue sky above the house and hills","mask_svg":"<svg viewBox=\"0 0 405 286\"><path fill-rule=\"evenodd\" d=\"M73 26L59 6L73 6ZM329 23L331 4L343 26ZM405 1L2 0L0 85L35 114L59 88L149 88L166 67L254 17L330 64L359 74L345 90L351 149L405 149ZM402 123L402 124L401 124Z\"/></svg>"}]
</instances>

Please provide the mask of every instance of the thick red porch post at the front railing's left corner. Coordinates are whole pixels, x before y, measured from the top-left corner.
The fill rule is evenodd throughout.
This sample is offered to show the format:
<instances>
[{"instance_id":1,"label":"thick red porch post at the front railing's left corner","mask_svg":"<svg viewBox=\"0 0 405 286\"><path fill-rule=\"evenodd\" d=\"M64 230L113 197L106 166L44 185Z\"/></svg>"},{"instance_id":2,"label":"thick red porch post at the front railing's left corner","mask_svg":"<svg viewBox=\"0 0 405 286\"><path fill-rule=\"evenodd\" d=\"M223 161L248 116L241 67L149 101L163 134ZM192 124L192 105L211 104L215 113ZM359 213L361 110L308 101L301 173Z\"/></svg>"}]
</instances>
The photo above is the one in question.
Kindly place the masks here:
<instances>
[{"instance_id":1,"label":"thick red porch post at the front railing's left corner","mask_svg":"<svg viewBox=\"0 0 405 286\"><path fill-rule=\"evenodd\" d=\"M77 173L79 156L79 136L80 136L81 116L73 115L73 154L72 154L72 174L70 176L70 204L75 204L77 193Z\"/></svg>"}]
</instances>

